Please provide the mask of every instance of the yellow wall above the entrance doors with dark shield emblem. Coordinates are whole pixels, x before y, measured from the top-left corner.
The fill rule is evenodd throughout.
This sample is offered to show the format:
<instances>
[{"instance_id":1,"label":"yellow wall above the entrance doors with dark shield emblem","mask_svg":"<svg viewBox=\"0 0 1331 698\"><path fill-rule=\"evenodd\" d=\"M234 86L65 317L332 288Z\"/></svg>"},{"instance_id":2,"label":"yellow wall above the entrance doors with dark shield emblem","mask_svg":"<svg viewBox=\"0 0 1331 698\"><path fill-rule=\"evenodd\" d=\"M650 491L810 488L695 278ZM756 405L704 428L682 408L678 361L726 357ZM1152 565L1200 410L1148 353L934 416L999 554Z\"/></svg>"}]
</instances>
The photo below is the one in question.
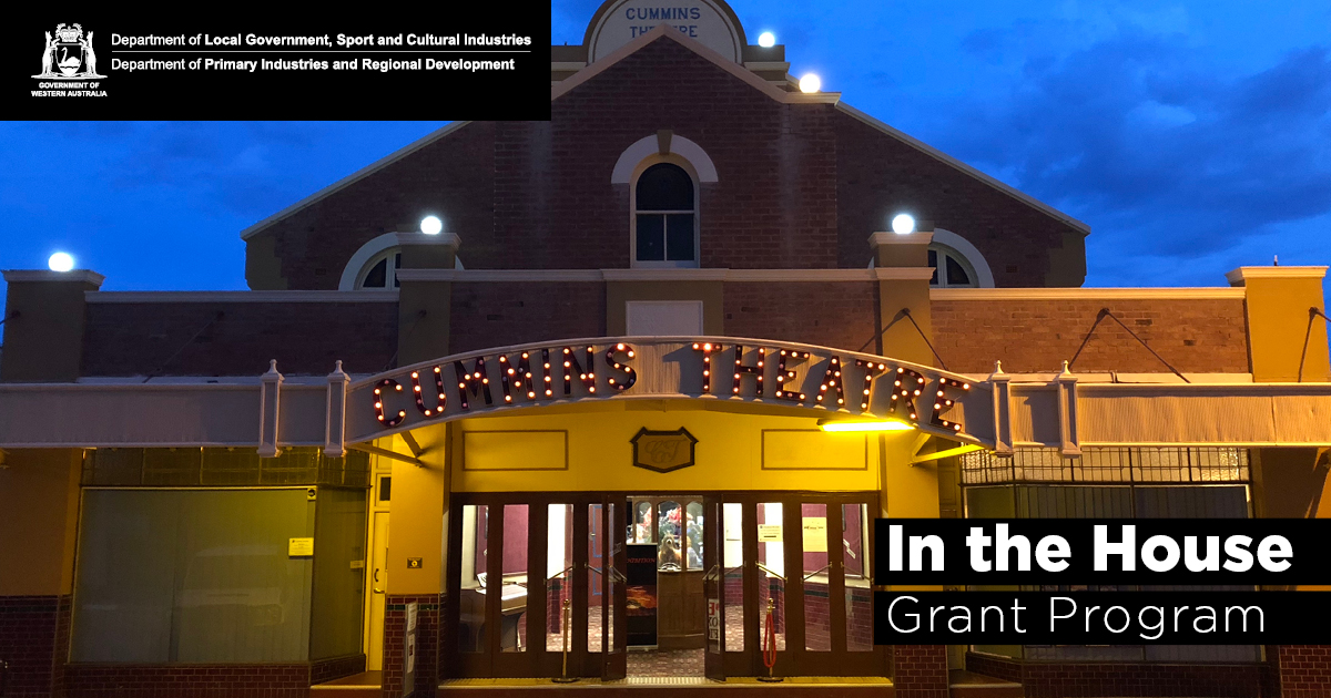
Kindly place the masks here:
<instances>
[{"instance_id":1,"label":"yellow wall above the entrance doors with dark shield emblem","mask_svg":"<svg viewBox=\"0 0 1331 698\"><path fill-rule=\"evenodd\" d=\"M551 469L550 455L532 453L524 459L522 449L507 444L504 451L514 468L495 469L495 459L483 453L466 453L465 433L454 440L455 463L453 487L457 492L583 492L583 491L745 491L745 489L809 489L828 492L864 492L881 488L884 455L889 471L906 468L906 448L913 432L886 435L886 445L880 448L877 436L869 435L868 448L847 447L845 441L865 443L862 433L827 433L817 431L812 417L773 416L756 413L720 412L693 408L672 408L671 403L603 403L578 412L532 412L462 420L461 432L567 432L567 464ZM679 471L659 473L632 465L631 439L642 428L654 431L688 429L697 439L696 464ZM808 468L791 467L787 457L772 453L764 467L764 429L801 429L812 444L800 451ZM773 444L791 444L789 435L769 437ZM518 439L515 436L515 439ZM548 439L532 440L534 444ZM473 439L471 443L483 443ZM865 453L866 451L866 453ZM864 453L858 456L857 453ZM469 469L467 463L483 463L484 469ZM912 492L922 492L922 483L933 492L933 516L937 516L937 480L932 471L913 468L902 481ZM912 504L917 497L902 492L898 505L902 511L928 511L929 507ZM397 503L394 503L397 507ZM397 509L394 508L394 516ZM920 516L926 516L921 513ZM397 525L397 521L394 521Z\"/></svg>"}]
</instances>

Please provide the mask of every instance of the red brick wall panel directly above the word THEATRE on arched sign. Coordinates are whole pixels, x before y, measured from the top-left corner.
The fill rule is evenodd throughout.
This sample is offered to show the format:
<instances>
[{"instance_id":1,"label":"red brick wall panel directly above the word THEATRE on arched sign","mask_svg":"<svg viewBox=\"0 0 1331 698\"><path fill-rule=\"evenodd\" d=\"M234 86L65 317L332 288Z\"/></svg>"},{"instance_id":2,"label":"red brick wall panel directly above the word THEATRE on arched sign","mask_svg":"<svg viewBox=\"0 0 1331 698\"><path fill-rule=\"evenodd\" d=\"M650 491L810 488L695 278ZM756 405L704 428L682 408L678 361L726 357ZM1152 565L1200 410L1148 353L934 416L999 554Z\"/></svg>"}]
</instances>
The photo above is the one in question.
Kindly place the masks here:
<instances>
[{"instance_id":1,"label":"red brick wall panel directly above the word THEATRE on arched sign","mask_svg":"<svg viewBox=\"0 0 1331 698\"><path fill-rule=\"evenodd\" d=\"M725 334L874 351L878 285L725 283Z\"/></svg>"}]
</instances>

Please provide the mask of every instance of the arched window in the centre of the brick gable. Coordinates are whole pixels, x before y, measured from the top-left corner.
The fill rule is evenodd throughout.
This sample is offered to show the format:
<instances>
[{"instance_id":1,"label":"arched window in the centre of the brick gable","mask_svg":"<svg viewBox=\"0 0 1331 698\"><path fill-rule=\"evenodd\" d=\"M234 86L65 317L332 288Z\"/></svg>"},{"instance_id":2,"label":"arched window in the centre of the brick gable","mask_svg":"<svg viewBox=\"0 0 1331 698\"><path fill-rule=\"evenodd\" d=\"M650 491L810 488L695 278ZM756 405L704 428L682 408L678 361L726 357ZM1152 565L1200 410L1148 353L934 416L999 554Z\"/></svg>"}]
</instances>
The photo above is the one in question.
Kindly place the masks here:
<instances>
[{"instance_id":1,"label":"arched window in the centre of the brick gable","mask_svg":"<svg viewBox=\"0 0 1331 698\"><path fill-rule=\"evenodd\" d=\"M634 266L697 266L697 183L669 162L648 166L634 185Z\"/></svg>"}]
</instances>

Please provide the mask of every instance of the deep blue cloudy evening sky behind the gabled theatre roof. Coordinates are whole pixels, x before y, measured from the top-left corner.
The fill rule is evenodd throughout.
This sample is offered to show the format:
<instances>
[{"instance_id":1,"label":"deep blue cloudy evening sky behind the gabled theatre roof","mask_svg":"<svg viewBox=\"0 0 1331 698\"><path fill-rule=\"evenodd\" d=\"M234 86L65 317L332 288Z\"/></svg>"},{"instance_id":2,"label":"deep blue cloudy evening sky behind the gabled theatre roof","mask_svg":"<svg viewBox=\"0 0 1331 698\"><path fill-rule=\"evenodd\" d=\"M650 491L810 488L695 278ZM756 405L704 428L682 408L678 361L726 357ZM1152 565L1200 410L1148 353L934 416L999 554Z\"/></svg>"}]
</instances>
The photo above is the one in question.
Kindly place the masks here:
<instances>
[{"instance_id":1,"label":"deep blue cloudy evening sky behind the gabled theatre roof","mask_svg":"<svg viewBox=\"0 0 1331 698\"><path fill-rule=\"evenodd\" d=\"M554 3L554 41L598 5ZM1331 263L1331 3L733 7L793 74L1087 222L1087 286ZM0 269L245 289L244 227L442 124L0 124Z\"/></svg>"}]
</instances>

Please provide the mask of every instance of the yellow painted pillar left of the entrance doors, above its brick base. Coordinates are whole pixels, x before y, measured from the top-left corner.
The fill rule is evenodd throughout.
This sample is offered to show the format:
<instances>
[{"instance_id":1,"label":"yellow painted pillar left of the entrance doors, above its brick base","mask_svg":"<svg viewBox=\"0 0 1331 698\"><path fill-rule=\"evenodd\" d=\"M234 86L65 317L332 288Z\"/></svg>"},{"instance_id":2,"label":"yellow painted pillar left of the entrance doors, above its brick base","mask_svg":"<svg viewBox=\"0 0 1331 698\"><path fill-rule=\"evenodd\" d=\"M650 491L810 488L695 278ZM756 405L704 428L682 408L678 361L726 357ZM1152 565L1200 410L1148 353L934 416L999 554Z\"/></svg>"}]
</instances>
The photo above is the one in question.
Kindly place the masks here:
<instances>
[{"instance_id":1,"label":"yellow painted pillar left of the entrance doors, above its brick base","mask_svg":"<svg viewBox=\"0 0 1331 698\"><path fill-rule=\"evenodd\" d=\"M447 429L443 424L413 432L425 452L418 467L393 461L393 517L389 523L389 594L437 594L443 590L445 515L449 505ZM375 445L399 453L410 449L399 437ZM419 557L419 569L407 568Z\"/></svg>"}]
</instances>

